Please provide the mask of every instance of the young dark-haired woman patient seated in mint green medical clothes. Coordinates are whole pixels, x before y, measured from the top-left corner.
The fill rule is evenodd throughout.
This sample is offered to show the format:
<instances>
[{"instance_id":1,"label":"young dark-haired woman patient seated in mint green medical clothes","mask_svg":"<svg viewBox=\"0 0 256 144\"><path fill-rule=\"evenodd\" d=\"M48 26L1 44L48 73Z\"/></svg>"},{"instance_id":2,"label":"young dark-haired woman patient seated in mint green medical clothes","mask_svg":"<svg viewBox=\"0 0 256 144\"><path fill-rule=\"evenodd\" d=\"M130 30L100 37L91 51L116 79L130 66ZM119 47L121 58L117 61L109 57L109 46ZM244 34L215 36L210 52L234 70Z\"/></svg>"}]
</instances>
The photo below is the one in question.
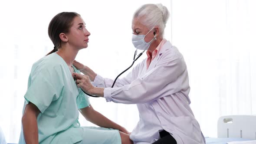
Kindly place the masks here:
<instances>
[{"instance_id":1,"label":"young dark-haired woman patient seated in mint green medical clothes","mask_svg":"<svg viewBox=\"0 0 256 144\"><path fill-rule=\"evenodd\" d=\"M48 34L54 49L32 66L19 144L131 144L129 132L95 111L72 77L79 73L72 63L79 50L87 48L90 36L81 16L57 14ZM80 127L79 111L104 128Z\"/></svg>"}]
</instances>

